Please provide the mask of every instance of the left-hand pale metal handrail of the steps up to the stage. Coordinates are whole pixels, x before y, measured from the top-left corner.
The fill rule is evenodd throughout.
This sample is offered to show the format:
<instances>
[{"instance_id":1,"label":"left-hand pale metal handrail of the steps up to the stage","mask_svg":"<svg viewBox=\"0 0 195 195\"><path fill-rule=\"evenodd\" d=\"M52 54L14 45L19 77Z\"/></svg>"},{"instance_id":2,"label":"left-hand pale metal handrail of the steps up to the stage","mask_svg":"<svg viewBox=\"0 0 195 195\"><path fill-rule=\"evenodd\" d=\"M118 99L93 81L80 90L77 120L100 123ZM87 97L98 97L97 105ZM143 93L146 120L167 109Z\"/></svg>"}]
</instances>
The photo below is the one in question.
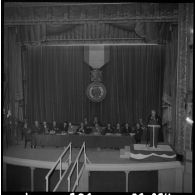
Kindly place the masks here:
<instances>
[{"instance_id":1,"label":"left-hand pale metal handrail of the steps up to the stage","mask_svg":"<svg viewBox=\"0 0 195 195\"><path fill-rule=\"evenodd\" d=\"M70 165L71 163L71 158L72 158L72 153L71 153L71 143L68 144L68 146L65 148L65 150L62 152L62 154L59 156L58 160L56 161L56 163L54 164L54 166L50 169L50 171L47 173L47 175L45 176L46 179L46 192L49 191L49 177L51 175L51 173L55 170L55 168L58 166L58 164L60 164L60 179L62 178L62 158L64 157L64 155L66 154L66 152L69 150L70 154L68 157L68 164ZM66 160L66 161L67 161ZM66 162L65 161L65 162Z\"/></svg>"}]
</instances>

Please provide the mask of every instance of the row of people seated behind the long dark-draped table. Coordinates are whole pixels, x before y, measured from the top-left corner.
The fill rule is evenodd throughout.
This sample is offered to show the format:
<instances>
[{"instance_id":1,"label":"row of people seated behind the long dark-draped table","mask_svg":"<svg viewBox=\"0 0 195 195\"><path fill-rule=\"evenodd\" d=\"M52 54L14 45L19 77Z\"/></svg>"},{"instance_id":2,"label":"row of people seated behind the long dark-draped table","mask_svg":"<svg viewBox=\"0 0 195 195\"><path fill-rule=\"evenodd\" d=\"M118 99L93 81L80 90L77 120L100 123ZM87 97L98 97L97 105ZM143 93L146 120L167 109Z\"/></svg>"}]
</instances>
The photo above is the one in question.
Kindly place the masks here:
<instances>
[{"instance_id":1,"label":"row of people seated behind the long dark-draped table","mask_svg":"<svg viewBox=\"0 0 195 195\"><path fill-rule=\"evenodd\" d=\"M21 131L22 137L33 135L33 134L96 134L96 135L109 135L109 134L122 134L122 135L135 135L136 143L141 141L141 136L143 133L143 125L142 121L136 123L136 126L130 127L128 123L124 125L120 125L117 123L115 126L112 126L110 123L103 125L101 124L97 117L94 118L93 122L88 123L85 118L80 125L73 125L71 122L64 123L56 123L53 121L52 123L47 123L46 121L39 123L35 121L34 124L28 123L26 120L24 121L23 127L21 128L21 124L15 120L9 120L8 129L10 132L17 133ZM22 138L23 139L23 138ZM26 138L25 138L26 139Z\"/></svg>"}]
</instances>

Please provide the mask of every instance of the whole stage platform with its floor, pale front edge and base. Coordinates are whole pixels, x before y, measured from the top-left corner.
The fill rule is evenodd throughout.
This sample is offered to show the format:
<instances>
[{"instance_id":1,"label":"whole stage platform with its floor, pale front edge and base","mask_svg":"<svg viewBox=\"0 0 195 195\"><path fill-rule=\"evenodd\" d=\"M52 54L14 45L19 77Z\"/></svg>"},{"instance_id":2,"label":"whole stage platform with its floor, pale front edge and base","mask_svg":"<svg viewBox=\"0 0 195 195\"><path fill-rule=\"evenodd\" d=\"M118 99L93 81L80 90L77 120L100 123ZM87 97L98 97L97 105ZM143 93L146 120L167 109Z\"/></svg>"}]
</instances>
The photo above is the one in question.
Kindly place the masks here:
<instances>
[{"instance_id":1,"label":"whole stage platform with its floor, pale front edge and base","mask_svg":"<svg viewBox=\"0 0 195 195\"><path fill-rule=\"evenodd\" d=\"M36 149L27 147L25 149L23 143L9 146L7 149L4 148L4 178L10 177L6 174L5 167L7 166L5 165L15 165L33 167L33 169L39 170L44 169L45 172L42 177L42 180L44 180L44 176L48 172L48 169L53 166L53 163L58 159L63 149L63 147L37 147ZM74 161L78 152L79 148L72 148L72 161ZM136 184L129 184L132 177L137 177L132 175L132 173L136 172L145 175L145 180L148 180L149 177L153 178L154 182L157 182L156 188L152 187L150 189L157 189L158 191L164 192L181 192L183 166L180 162L176 160L166 162L162 159L156 161L146 160L143 162L136 159L121 158L120 152L119 149L86 148L86 155L90 163L85 167L85 171L80 179L81 185L78 186L77 191L99 191L99 188L104 189L103 191L109 191L110 189L113 191L136 191L135 188L132 188L132 186L136 186ZM63 163L62 168L66 169L67 167L68 165ZM120 182L115 183L114 180L112 181L113 184L107 184L105 186L104 179L100 179L103 177L109 180L107 177L110 177L112 180L113 177L115 178L113 174L116 173L121 177L121 182L124 180L121 185L119 185ZM116 177L118 176L116 175ZM102 182L104 181L102 184L101 180ZM9 182L9 179L4 179L4 181L4 189L9 188L9 185L6 186L6 181ZM45 181L42 181L42 186L36 186L35 183L36 182L33 184L31 183L31 191L45 190ZM115 185L115 187L113 185ZM145 191L148 191L148 189L145 189Z\"/></svg>"}]
</instances>

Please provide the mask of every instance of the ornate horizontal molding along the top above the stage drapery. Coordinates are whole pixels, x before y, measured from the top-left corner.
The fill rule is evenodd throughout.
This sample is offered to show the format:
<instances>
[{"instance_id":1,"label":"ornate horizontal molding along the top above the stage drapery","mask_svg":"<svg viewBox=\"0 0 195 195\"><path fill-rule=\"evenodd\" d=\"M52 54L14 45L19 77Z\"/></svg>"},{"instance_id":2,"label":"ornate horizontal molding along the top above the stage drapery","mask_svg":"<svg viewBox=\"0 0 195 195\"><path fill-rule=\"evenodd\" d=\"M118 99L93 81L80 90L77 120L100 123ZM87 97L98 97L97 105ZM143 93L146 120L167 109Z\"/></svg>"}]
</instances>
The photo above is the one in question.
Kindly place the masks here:
<instances>
[{"instance_id":1,"label":"ornate horizontal molding along the top above the stage drapery","mask_svg":"<svg viewBox=\"0 0 195 195\"><path fill-rule=\"evenodd\" d=\"M4 25L36 23L128 22L132 20L177 22L176 3L9 3Z\"/></svg>"}]
</instances>

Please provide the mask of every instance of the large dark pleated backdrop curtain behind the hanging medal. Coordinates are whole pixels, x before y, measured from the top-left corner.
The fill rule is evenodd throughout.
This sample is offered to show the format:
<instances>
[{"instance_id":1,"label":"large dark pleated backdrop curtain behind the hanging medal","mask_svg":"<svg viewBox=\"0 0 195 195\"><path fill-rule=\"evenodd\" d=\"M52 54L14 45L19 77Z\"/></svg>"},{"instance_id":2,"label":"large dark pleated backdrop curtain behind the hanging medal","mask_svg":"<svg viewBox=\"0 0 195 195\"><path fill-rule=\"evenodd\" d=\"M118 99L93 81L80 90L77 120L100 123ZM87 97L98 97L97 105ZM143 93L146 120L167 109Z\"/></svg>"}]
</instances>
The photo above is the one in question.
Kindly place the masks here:
<instances>
[{"instance_id":1,"label":"large dark pleated backdrop curtain behind the hanging medal","mask_svg":"<svg viewBox=\"0 0 195 195\"><path fill-rule=\"evenodd\" d=\"M102 122L133 124L151 109L161 114L164 47L110 46L103 66L107 96L93 103L86 96L91 68L84 47L27 47L27 117L33 121L79 123L97 116Z\"/></svg>"}]
</instances>

